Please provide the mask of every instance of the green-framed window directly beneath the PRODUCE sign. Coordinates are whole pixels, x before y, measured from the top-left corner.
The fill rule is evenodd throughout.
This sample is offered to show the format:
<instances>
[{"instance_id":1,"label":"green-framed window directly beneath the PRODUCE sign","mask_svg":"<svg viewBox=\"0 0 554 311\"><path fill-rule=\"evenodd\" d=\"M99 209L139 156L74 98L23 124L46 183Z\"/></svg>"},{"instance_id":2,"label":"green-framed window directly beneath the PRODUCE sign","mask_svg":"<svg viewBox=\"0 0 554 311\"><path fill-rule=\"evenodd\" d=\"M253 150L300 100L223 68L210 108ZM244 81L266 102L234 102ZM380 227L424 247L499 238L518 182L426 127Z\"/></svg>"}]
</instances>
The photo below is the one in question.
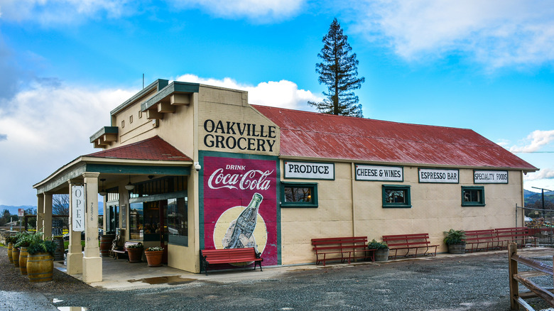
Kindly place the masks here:
<instances>
[{"instance_id":1,"label":"green-framed window directly beneath the PRODUCE sign","mask_svg":"<svg viewBox=\"0 0 554 311\"><path fill-rule=\"evenodd\" d=\"M317 207L317 183L281 182L281 207Z\"/></svg>"}]
</instances>

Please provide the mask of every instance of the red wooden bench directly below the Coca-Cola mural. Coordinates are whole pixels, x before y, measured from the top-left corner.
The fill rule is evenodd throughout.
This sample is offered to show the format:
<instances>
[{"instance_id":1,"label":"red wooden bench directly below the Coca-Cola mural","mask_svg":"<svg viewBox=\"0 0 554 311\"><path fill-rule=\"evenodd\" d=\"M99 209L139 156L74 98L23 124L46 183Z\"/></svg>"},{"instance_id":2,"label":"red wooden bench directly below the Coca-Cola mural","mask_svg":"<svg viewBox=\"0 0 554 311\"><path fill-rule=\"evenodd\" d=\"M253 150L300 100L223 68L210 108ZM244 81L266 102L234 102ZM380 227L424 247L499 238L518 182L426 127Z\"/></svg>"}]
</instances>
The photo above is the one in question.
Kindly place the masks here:
<instances>
[{"instance_id":1,"label":"red wooden bench directly below the Coca-Cola mural","mask_svg":"<svg viewBox=\"0 0 554 311\"><path fill-rule=\"evenodd\" d=\"M254 247L247 249L204 249L200 250L200 273L202 268L206 271L210 264L217 263L248 263L254 261L254 270L256 265L260 266L264 258L261 258L261 253L256 252Z\"/></svg>"}]
</instances>

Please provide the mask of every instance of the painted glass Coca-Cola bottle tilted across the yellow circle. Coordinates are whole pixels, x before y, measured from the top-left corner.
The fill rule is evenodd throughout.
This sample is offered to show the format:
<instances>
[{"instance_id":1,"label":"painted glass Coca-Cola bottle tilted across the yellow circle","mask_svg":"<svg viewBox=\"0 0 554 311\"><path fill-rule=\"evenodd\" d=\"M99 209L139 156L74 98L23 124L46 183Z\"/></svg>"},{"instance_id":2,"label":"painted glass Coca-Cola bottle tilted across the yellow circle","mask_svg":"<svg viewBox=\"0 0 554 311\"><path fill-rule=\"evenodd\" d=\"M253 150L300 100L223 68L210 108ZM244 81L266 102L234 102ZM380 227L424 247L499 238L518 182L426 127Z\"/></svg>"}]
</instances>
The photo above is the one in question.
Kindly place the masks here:
<instances>
[{"instance_id":1,"label":"painted glass Coca-Cola bottle tilted across the yellow circle","mask_svg":"<svg viewBox=\"0 0 554 311\"><path fill-rule=\"evenodd\" d=\"M254 193L248 207L241 212L236 220L229 224L227 234L223 238L224 249L242 249L246 247L256 248L254 239L254 229L258 219L258 209L264 197L259 193Z\"/></svg>"}]
</instances>

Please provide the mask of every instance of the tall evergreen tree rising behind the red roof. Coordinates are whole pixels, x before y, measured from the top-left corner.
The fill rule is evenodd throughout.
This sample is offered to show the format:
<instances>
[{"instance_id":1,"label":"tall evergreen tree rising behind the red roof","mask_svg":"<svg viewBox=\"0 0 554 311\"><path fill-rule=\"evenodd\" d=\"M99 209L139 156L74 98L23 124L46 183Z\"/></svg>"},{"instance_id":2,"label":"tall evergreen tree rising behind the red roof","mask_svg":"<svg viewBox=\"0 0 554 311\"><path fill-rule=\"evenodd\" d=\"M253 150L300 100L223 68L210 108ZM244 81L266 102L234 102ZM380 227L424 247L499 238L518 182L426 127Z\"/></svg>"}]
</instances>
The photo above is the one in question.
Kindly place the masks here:
<instances>
[{"instance_id":1,"label":"tall evergreen tree rising behind the red roof","mask_svg":"<svg viewBox=\"0 0 554 311\"><path fill-rule=\"evenodd\" d=\"M362 105L352 90L362 87L364 77L358 78L358 60L356 53L351 53L348 37L342 34L342 28L337 18L329 27L329 32L323 37L323 48L318 58L315 71L320 74L320 84L327 85L323 92L323 102L308 102L325 114L363 117Z\"/></svg>"}]
</instances>

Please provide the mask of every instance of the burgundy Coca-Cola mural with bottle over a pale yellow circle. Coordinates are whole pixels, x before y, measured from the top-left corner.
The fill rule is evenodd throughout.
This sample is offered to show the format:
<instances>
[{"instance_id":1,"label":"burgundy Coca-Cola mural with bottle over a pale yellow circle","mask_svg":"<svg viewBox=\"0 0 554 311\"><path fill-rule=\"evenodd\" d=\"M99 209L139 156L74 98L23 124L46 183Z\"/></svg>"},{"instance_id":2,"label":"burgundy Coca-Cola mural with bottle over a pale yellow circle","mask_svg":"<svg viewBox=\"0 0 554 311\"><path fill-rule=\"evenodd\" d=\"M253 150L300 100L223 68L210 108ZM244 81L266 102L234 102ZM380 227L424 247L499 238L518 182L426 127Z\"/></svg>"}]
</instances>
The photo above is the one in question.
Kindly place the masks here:
<instances>
[{"instance_id":1,"label":"burgundy Coca-Cola mural with bottle over a pale yellow circle","mask_svg":"<svg viewBox=\"0 0 554 311\"><path fill-rule=\"evenodd\" d=\"M254 247L278 263L276 160L205 156L204 247Z\"/></svg>"}]
</instances>

